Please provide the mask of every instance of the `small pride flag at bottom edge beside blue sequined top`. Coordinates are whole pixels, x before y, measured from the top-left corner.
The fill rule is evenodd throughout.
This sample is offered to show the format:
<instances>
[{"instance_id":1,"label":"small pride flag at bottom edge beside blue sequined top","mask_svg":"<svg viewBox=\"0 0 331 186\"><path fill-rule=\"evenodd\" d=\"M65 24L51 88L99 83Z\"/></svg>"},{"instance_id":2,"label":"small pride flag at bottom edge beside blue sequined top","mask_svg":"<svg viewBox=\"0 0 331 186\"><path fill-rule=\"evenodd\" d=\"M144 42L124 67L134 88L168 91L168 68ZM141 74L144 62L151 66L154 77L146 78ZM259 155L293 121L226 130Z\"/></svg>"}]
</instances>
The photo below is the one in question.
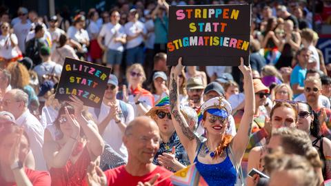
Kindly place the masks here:
<instances>
[{"instance_id":1,"label":"small pride flag at bottom edge beside blue sequined top","mask_svg":"<svg viewBox=\"0 0 331 186\"><path fill-rule=\"evenodd\" d=\"M175 172L170 180L174 186L208 186L195 167L195 163Z\"/></svg>"}]
</instances>

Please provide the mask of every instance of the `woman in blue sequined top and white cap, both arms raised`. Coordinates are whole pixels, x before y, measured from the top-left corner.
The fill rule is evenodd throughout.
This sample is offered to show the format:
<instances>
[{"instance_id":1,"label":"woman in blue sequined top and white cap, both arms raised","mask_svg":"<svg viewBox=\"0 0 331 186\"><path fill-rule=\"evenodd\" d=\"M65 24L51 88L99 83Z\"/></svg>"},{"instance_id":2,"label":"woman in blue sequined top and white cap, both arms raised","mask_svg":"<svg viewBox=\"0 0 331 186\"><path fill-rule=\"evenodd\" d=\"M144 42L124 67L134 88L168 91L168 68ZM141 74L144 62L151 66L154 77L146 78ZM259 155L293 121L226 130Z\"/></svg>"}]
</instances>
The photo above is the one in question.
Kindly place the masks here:
<instances>
[{"instance_id":1,"label":"woman in blue sequined top and white cap, both arms raised","mask_svg":"<svg viewBox=\"0 0 331 186\"><path fill-rule=\"evenodd\" d=\"M201 105L207 141L200 139L190 130L183 114L179 112L178 74L183 70L181 58L176 67L170 72L170 112L172 123L179 139L185 147L191 163L196 167L208 185L234 185L239 174L238 167L250 139L255 101L250 66L241 65L239 69L244 77L245 112L241 118L237 135L232 138L225 134L228 128L228 117L231 106L223 97L215 97ZM235 152L235 153L233 153ZM242 178L242 175L239 177Z\"/></svg>"}]
</instances>

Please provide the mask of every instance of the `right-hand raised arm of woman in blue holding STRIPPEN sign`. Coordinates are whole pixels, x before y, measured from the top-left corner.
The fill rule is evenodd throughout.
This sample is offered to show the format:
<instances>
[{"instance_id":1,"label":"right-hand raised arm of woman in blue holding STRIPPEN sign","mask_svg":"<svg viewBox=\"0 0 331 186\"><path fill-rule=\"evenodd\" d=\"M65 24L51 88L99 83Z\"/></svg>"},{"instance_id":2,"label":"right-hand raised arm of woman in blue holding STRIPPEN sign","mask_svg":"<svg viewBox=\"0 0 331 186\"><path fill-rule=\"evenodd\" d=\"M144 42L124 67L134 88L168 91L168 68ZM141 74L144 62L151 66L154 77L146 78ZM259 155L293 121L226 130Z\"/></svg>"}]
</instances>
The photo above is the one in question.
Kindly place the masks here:
<instances>
[{"instance_id":1,"label":"right-hand raised arm of woman in blue holding STRIPPEN sign","mask_svg":"<svg viewBox=\"0 0 331 186\"><path fill-rule=\"evenodd\" d=\"M232 140L232 149L236 162L240 163L243 153L250 141L252 132L252 122L255 110L255 96L253 90L252 69L250 66L243 65L243 58L241 58L241 65L239 69L243 73L243 89L245 91L245 107L243 117L241 118L237 135Z\"/></svg>"}]
</instances>

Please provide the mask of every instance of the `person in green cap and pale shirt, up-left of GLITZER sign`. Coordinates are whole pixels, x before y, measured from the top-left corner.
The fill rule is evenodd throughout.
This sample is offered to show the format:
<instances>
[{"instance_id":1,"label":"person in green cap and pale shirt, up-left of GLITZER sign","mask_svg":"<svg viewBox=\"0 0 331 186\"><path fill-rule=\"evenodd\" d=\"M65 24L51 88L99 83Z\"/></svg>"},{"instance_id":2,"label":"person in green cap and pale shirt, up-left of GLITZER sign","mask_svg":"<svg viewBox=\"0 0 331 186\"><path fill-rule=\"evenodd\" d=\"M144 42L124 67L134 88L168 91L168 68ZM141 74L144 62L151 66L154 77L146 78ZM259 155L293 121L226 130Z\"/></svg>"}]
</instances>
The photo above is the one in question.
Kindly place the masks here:
<instances>
[{"instance_id":1,"label":"person in green cap and pale shirt, up-left of GLITZER sign","mask_svg":"<svg viewBox=\"0 0 331 186\"><path fill-rule=\"evenodd\" d=\"M40 83L43 82L43 75L55 74L61 76L62 66L55 63L50 59L50 48L43 46L40 49L40 57L42 63L34 67L34 71L37 72L38 80Z\"/></svg>"}]
</instances>

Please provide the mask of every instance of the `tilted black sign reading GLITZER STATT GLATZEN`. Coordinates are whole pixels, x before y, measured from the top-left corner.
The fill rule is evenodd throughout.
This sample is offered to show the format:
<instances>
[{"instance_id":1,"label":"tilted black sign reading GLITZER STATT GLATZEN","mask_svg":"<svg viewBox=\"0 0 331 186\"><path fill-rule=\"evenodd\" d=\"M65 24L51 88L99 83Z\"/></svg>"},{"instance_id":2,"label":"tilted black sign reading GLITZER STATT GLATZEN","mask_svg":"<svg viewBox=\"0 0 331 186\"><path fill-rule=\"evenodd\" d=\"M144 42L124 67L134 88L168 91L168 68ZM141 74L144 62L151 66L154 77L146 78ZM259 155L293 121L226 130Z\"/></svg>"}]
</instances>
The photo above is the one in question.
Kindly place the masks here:
<instances>
[{"instance_id":1,"label":"tilted black sign reading GLITZER STATT GLATZEN","mask_svg":"<svg viewBox=\"0 0 331 186\"><path fill-rule=\"evenodd\" d=\"M100 108L110 70L101 65L66 57L55 98L59 101L71 101L69 96L75 95L84 105Z\"/></svg>"}]
</instances>

